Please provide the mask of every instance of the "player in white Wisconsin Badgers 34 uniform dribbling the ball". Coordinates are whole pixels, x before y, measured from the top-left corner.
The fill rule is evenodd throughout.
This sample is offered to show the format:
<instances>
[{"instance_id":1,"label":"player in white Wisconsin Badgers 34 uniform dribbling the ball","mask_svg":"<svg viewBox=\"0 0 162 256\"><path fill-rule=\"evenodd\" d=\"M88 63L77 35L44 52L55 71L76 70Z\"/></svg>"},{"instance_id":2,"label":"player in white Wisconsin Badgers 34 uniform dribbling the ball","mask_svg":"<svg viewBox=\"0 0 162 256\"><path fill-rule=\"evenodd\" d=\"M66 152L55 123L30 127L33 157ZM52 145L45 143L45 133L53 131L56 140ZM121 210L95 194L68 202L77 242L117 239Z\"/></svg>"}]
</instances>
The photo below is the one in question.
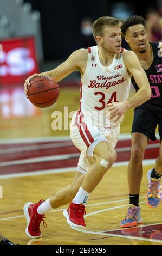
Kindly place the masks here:
<instances>
[{"instance_id":1,"label":"player in white Wisconsin Badgers 34 uniform dribbling the ball","mask_svg":"<svg viewBox=\"0 0 162 256\"><path fill-rule=\"evenodd\" d=\"M80 149L81 157L71 185L45 201L24 205L28 222L25 231L31 238L41 237L40 223L46 212L71 200L68 209L63 212L68 224L74 227L86 226L86 202L116 159L114 147L124 113L128 108L141 105L151 97L147 76L137 56L132 51L123 52L121 48L120 25L118 19L100 17L93 24L96 46L73 52L56 69L41 74L59 82L73 71L80 70L80 108L73 115L70 136ZM131 75L139 90L129 97ZM26 94L34 76L36 74L25 80Z\"/></svg>"}]
</instances>

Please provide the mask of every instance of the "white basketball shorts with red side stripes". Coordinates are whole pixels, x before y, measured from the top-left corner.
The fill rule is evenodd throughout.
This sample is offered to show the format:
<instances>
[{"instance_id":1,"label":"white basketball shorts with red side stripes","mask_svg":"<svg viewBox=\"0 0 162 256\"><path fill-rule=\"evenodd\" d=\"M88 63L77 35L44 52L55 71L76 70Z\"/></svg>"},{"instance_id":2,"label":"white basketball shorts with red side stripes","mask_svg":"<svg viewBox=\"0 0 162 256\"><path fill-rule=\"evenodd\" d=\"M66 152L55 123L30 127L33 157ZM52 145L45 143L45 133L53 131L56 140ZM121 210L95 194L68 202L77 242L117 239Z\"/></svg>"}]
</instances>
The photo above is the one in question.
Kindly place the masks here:
<instances>
[{"instance_id":1,"label":"white basketball shorts with red side stripes","mask_svg":"<svg viewBox=\"0 0 162 256\"><path fill-rule=\"evenodd\" d=\"M93 157L95 145L100 141L108 141L115 148L119 138L120 125L105 129L104 127L94 127L83 121L79 123L77 119L79 114L77 113L72 118L70 137L74 145L81 151L77 170L86 173L89 168L86 155Z\"/></svg>"}]
</instances>

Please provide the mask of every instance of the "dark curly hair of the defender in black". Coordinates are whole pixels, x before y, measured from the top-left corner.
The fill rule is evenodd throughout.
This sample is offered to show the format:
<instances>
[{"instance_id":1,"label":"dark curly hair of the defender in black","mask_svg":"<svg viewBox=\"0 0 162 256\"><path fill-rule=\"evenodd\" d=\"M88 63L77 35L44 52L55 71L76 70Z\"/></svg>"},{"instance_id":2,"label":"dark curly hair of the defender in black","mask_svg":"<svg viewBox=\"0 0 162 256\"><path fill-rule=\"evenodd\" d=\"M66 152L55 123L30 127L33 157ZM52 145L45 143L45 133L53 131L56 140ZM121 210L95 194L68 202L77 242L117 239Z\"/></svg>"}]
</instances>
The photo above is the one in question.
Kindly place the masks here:
<instances>
[{"instance_id":1,"label":"dark curly hair of the defender in black","mask_svg":"<svg viewBox=\"0 0 162 256\"><path fill-rule=\"evenodd\" d=\"M142 24L145 27L145 22L146 21L142 16L133 15L128 17L128 19L121 25L122 36L125 36L127 29L133 25Z\"/></svg>"}]
</instances>

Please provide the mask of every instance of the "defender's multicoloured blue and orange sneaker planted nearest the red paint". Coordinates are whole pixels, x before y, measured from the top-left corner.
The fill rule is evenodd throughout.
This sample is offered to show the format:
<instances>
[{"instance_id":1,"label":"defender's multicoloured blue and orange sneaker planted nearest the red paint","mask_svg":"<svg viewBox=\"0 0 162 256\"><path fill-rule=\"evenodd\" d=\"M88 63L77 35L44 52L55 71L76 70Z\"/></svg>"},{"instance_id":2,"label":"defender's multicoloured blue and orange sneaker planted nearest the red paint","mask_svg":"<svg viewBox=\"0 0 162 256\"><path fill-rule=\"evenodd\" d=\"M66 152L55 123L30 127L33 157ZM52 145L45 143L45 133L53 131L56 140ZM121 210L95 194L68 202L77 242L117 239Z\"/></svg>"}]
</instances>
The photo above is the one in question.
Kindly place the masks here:
<instances>
[{"instance_id":1,"label":"defender's multicoloured blue and orange sneaker planted nearest the red paint","mask_svg":"<svg viewBox=\"0 0 162 256\"><path fill-rule=\"evenodd\" d=\"M142 217L140 214L140 207L130 204L127 212L127 216L121 221L121 228L136 227L137 224L142 223Z\"/></svg>"}]
</instances>

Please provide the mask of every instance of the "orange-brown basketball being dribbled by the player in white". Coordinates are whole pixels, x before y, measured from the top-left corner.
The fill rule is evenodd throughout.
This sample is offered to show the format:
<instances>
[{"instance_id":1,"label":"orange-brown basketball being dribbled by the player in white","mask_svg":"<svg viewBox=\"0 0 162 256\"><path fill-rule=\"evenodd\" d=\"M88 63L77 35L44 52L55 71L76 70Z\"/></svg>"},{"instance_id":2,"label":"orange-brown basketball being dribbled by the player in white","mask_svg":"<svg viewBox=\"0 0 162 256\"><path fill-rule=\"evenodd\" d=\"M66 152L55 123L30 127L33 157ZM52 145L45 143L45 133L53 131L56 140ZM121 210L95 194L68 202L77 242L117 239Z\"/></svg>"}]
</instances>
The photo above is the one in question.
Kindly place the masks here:
<instances>
[{"instance_id":1,"label":"orange-brown basketball being dribbled by the player in white","mask_svg":"<svg viewBox=\"0 0 162 256\"><path fill-rule=\"evenodd\" d=\"M36 76L30 84L28 99L36 107L50 107L59 98L59 84L50 76Z\"/></svg>"}]
</instances>

